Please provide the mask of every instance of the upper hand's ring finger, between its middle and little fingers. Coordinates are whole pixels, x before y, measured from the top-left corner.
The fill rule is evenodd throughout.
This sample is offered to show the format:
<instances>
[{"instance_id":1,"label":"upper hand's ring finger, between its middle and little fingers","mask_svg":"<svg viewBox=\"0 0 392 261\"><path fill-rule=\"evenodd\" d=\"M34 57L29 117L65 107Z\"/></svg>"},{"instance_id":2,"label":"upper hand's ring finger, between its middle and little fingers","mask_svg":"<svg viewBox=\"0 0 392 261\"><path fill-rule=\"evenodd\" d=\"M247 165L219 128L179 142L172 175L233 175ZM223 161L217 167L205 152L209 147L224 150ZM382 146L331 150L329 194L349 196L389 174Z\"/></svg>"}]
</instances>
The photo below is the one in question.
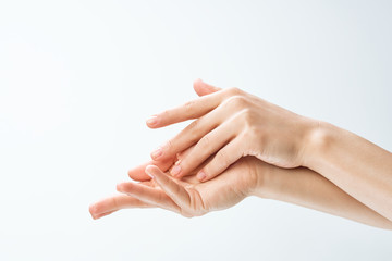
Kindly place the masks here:
<instances>
[{"instance_id":1,"label":"upper hand's ring finger, between its middle and little fingers","mask_svg":"<svg viewBox=\"0 0 392 261\"><path fill-rule=\"evenodd\" d=\"M170 173L175 177L187 175L211 154L215 154L224 145L232 140L238 133L237 128L238 124L233 125L232 121L228 121L210 133L204 135L189 154L182 159L179 164L173 166Z\"/></svg>"}]
</instances>

